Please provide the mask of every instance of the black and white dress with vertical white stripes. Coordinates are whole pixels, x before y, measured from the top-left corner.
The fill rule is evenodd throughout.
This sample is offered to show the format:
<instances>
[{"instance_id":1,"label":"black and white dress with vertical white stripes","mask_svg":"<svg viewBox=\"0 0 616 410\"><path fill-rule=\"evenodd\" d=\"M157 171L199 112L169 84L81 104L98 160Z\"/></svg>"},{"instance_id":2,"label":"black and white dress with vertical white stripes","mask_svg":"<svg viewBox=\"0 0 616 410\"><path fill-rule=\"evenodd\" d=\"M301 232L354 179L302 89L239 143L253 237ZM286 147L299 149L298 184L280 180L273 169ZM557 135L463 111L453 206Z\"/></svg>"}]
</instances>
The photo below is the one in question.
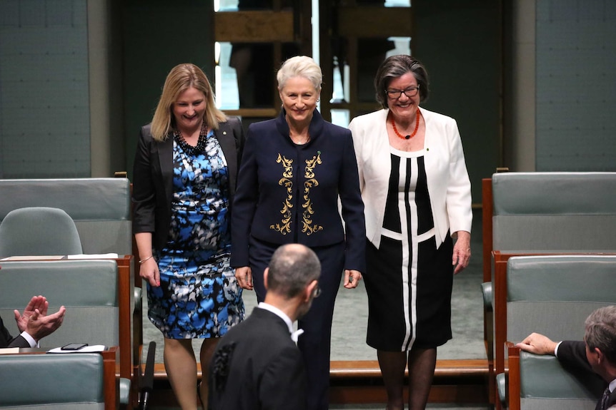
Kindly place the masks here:
<instances>
[{"instance_id":1,"label":"black and white dress with vertical white stripes","mask_svg":"<svg viewBox=\"0 0 616 410\"><path fill-rule=\"evenodd\" d=\"M367 344L404 352L441 346L452 338L451 235L437 249L424 150L391 148L379 249L367 241Z\"/></svg>"}]
</instances>

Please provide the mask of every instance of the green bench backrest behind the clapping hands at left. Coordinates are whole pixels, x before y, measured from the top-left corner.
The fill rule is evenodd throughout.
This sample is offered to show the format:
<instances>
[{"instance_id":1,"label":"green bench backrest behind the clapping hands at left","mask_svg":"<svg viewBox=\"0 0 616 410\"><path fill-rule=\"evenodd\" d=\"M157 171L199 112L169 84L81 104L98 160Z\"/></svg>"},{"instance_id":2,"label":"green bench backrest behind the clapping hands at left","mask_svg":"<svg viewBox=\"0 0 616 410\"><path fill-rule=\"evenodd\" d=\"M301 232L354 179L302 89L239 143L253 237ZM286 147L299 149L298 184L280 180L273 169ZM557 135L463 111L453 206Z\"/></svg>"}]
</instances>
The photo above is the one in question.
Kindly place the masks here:
<instances>
[{"instance_id":1,"label":"green bench backrest behind the clapping hands at left","mask_svg":"<svg viewBox=\"0 0 616 410\"><path fill-rule=\"evenodd\" d=\"M115 260L0 262L0 314L13 317L35 294L49 301L49 312L66 307L64 322L41 340L41 347L71 342L119 345L118 270ZM14 320L5 320L18 334Z\"/></svg>"}]
</instances>

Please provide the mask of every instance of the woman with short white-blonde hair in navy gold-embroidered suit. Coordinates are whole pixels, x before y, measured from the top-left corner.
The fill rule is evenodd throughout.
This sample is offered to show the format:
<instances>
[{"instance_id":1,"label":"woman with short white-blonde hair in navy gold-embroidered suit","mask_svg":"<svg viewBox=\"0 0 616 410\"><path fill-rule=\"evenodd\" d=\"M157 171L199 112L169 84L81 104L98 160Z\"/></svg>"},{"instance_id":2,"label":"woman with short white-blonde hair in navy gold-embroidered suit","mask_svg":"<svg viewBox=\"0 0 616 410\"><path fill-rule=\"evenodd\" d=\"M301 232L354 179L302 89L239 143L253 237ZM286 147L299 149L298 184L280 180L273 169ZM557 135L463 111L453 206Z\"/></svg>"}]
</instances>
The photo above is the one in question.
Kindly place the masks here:
<instances>
[{"instance_id":1,"label":"woman with short white-blonde hair in navy gold-embroidered suit","mask_svg":"<svg viewBox=\"0 0 616 410\"><path fill-rule=\"evenodd\" d=\"M357 287L365 267L364 205L351 133L317 110L319 65L307 56L289 58L277 80L280 115L248 128L233 205L232 266L239 285L262 302L264 270L279 245L297 242L319 257L319 297L299 319L304 333L297 346L308 377L306 409L324 410L334 301L341 280L346 289Z\"/></svg>"}]
</instances>

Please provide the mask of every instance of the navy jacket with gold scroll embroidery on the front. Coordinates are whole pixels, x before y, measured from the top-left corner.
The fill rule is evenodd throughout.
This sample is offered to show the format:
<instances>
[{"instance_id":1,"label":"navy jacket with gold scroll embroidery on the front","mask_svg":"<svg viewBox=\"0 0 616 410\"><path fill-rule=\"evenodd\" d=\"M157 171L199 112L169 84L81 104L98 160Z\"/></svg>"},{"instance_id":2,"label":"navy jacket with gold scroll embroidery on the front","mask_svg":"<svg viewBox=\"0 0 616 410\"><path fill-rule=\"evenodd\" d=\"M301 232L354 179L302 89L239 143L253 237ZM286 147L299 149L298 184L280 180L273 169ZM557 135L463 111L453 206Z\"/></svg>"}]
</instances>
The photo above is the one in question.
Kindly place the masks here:
<instances>
[{"instance_id":1,"label":"navy jacket with gold scroll embroidery on the front","mask_svg":"<svg viewBox=\"0 0 616 410\"><path fill-rule=\"evenodd\" d=\"M364 203L351 131L315 110L309 142L296 145L284 116L283 110L248 128L233 204L232 266L249 265L252 235L308 247L346 241L344 269L365 272Z\"/></svg>"}]
</instances>

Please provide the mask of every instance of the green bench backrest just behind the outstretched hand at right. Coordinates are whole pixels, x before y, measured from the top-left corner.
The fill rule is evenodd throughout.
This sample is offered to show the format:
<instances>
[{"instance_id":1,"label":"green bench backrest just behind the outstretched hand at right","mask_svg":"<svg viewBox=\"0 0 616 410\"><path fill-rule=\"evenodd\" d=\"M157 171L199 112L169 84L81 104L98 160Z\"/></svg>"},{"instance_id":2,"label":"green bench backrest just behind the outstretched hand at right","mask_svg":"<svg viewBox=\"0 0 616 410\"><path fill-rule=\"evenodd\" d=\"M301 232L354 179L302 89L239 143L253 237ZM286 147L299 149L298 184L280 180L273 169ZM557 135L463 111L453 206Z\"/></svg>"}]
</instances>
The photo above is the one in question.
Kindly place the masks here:
<instances>
[{"instance_id":1,"label":"green bench backrest just behind the outstretched hand at right","mask_svg":"<svg viewBox=\"0 0 616 410\"><path fill-rule=\"evenodd\" d=\"M616 256L552 255L507 261L507 340L539 332L553 340L582 340L584 321L614 304ZM601 285L605 284L605 285Z\"/></svg>"}]
</instances>

